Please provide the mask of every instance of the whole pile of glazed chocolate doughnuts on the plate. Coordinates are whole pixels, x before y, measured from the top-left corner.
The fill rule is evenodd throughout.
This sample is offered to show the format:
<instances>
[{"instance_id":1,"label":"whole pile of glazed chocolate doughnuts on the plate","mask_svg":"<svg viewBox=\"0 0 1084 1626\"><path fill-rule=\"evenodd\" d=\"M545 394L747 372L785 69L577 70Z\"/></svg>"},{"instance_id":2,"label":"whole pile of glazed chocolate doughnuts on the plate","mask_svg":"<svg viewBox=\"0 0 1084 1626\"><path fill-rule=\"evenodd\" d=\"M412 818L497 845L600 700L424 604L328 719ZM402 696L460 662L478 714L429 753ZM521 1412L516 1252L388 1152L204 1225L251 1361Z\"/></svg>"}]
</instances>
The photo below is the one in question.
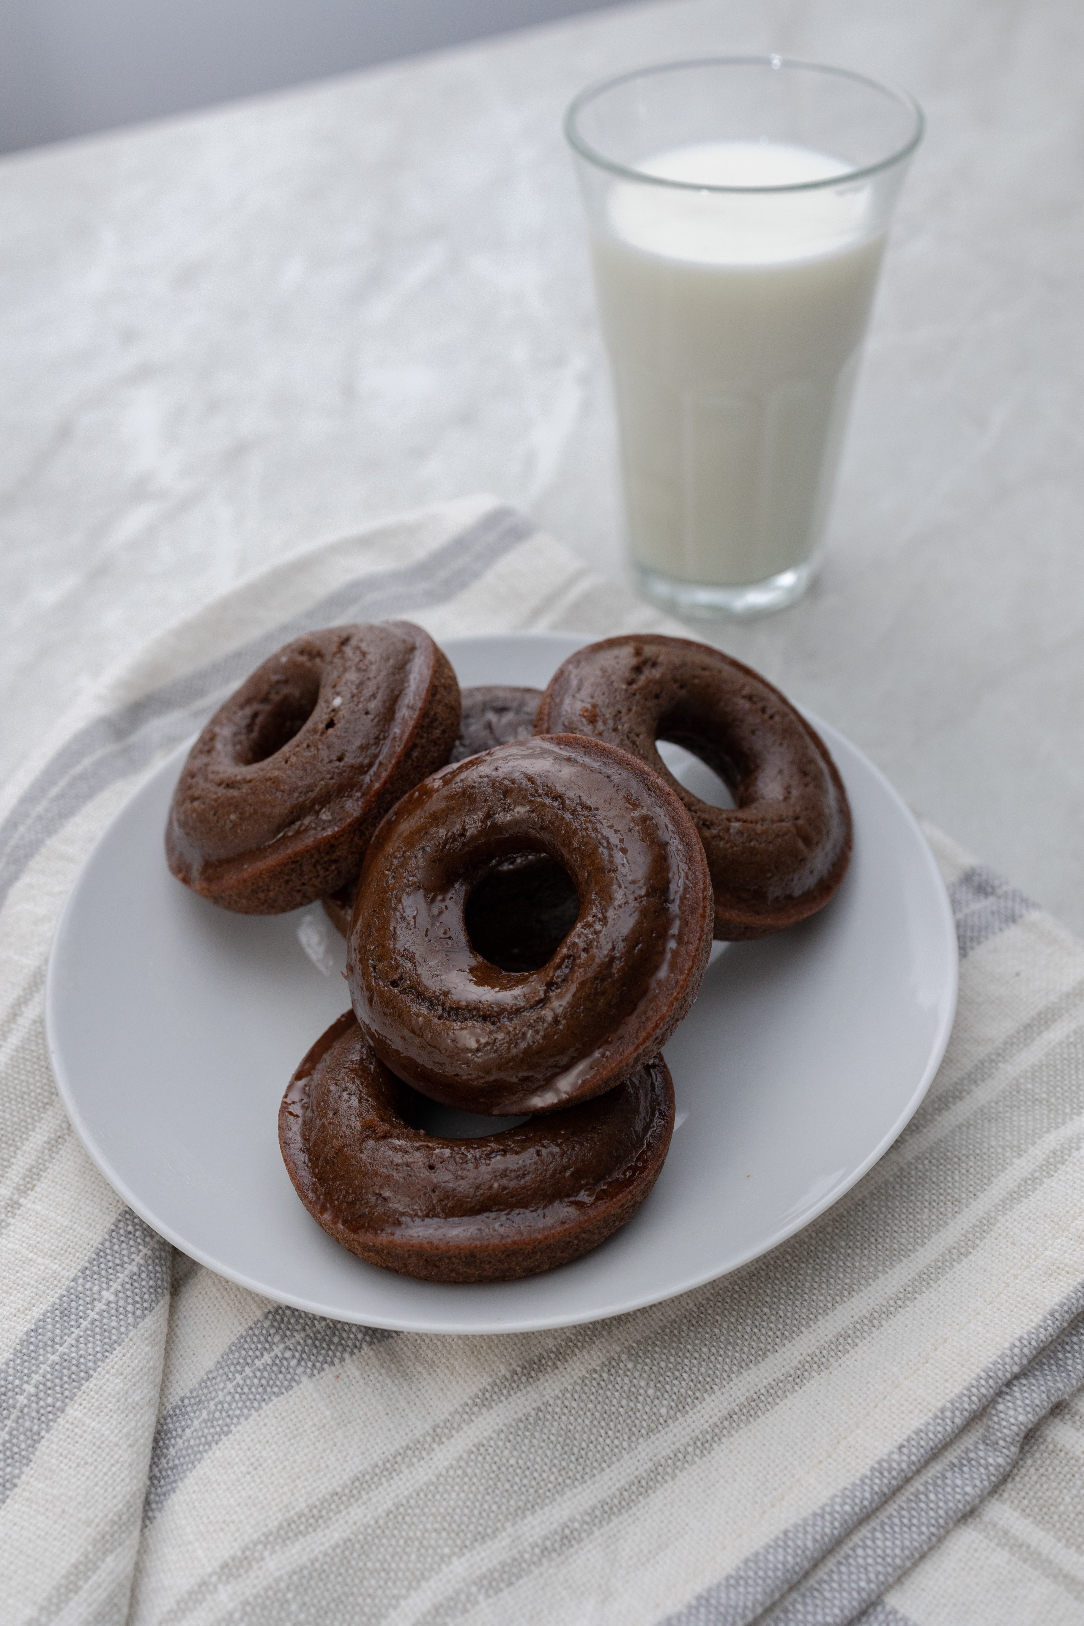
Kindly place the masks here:
<instances>
[{"instance_id":1,"label":"whole pile of glazed chocolate doughnuts on the plate","mask_svg":"<svg viewBox=\"0 0 1084 1626\"><path fill-rule=\"evenodd\" d=\"M658 740L735 806L691 795ZM346 935L353 1008L291 1078L280 1145L330 1236L431 1281L551 1270L632 1216L673 1132L661 1049L712 938L821 909L850 842L824 743L718 650L616 637L543 694L460 694L405 621L267 660L197 740L166 829L211 902L323 899ZM426 1098L523 1120L442 1138Z\"/></svg>"}]
</instances>

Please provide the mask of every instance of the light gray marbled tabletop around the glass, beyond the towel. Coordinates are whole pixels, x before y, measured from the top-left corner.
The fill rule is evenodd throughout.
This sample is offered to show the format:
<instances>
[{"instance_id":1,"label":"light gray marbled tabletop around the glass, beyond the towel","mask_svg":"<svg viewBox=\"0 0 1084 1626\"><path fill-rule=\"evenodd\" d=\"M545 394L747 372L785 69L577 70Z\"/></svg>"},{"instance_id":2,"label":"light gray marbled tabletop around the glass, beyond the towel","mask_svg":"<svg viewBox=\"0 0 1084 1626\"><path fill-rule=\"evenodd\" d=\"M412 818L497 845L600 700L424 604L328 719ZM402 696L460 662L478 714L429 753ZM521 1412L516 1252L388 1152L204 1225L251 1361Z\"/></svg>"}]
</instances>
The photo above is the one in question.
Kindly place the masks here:
<instances>
[{"instance_id":1,"label":"light gray marbled tabletop around the glass, beyond the towel","mask_svg":"<svg viewBox=\"0 0 1084 1626\"><path fill-rule=\"evenodd\" d=\"M670 0L0 163L0 777L241 576L488 489L621 571L561 114L650 60L905 83L824 574L707 633L1084 930L1084 11Z\"/></svg>"}]
</instances>

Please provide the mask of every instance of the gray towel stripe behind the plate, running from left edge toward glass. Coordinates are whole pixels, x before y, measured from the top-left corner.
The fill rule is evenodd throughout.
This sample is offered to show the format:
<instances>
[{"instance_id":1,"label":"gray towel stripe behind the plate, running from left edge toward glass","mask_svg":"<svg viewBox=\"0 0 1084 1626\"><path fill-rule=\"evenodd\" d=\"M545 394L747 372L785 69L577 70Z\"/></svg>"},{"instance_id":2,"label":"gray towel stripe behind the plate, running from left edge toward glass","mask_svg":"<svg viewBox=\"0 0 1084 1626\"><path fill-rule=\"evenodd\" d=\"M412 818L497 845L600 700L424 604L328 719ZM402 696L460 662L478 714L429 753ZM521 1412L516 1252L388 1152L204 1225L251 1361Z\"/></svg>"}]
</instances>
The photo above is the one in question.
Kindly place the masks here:
<instances>
[{"instance_id":1,"label":"gray towel stripe behind the plate, running from left edge toward glass","mask_svg":"<svg viewBox=\"0 0 1084 1626\"><path fill-rule=\"evenodd\" d=\"M229 655L143 694L80 728L24 790L0 826L0 906L41 847L93 797L179 745L281 644L345 616L382 620L444 603L533 535L514 509L491 509L434 553L397 571L354 577L297 616L250 639Z\"/></svg>"}]
</instances>

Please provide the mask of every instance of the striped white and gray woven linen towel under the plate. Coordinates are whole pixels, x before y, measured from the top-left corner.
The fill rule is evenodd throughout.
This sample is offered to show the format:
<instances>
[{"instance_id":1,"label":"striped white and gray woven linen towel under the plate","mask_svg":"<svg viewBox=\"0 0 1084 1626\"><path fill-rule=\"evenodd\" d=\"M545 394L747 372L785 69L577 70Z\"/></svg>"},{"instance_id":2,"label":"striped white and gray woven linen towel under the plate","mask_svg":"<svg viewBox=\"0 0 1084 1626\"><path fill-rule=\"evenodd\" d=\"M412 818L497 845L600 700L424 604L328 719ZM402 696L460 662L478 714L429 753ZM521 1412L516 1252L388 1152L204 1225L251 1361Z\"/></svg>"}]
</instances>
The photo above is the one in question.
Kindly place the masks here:
<instances>
[{"instance_id":1,"label":"striped white and gray woven linen towel under the plate","mask_svg":"<svg viewBox=\"0 0 1084 1626\"><path fill-rule=\"evenodd\" d=\"M933 831L962 956L941 1072L735 1276L559 1332L400 1335L215 1276L98 1176L42 1029L80 863L260 659L397 615L666 626L522 515L445 504L156 639L0 805L3 1619L1079 1619L1084 948Z\"/></svg>"}]
</instances>

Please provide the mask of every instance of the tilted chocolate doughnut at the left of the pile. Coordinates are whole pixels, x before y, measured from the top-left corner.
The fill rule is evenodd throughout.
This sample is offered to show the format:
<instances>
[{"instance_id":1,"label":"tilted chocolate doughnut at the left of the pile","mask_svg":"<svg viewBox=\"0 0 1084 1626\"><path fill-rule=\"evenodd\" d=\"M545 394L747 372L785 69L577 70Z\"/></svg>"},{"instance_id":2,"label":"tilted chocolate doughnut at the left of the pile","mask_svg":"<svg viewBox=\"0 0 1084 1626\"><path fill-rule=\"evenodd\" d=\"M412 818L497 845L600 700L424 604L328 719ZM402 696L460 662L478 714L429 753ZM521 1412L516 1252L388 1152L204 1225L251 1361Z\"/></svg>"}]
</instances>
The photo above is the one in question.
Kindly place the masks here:
<instances>
[{"instance_id":1,"label":"tilted chocolate doughnut at the left of the pile","mask_svg":"<svg viewBox=\"0 0 1084 1626\"><path fill-rule=\"evenodd\" d=\"M286 644L192 746L166 826L169 868L241 914L336 891L388 808L447 763L458 717L452 667L410 621Z\"/></svg>"}]
</instances>

